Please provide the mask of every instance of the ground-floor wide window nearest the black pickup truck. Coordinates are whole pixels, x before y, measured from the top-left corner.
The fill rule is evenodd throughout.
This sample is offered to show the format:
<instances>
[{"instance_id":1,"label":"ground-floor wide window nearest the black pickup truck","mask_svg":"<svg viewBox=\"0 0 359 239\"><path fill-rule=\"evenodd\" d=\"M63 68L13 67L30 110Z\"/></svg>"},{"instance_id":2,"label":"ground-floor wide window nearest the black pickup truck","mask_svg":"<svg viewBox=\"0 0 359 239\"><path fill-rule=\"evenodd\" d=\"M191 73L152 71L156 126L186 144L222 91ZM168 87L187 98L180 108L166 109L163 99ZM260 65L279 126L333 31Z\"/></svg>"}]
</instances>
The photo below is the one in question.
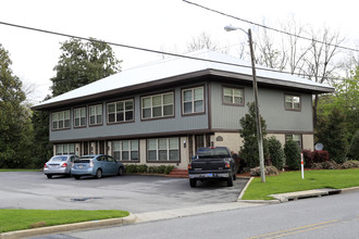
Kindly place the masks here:
<instances>
[{"instance_id":1,"label":"ground-floor wide window nearest the black pickup truck","mask_svg":"<svg viewBox=\"0 0 359 239\"><path fill-rule=\"evenodd\" d=\"M178 138L148 139L148 161L180 161L178 142Z\"/></svg>"}]
</instances>

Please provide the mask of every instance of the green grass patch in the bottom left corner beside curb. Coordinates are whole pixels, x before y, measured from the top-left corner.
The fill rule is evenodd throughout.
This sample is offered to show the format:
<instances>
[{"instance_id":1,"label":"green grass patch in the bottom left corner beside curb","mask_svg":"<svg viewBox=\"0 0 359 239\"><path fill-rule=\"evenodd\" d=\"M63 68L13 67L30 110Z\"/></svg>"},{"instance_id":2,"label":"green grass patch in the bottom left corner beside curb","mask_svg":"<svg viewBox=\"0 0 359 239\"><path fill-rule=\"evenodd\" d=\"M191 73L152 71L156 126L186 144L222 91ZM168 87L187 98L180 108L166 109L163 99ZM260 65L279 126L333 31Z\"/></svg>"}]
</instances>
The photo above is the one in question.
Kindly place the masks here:
<instances>
[{"instance_id":1,"label":"green grass patch in the bottom left corner beside curb","mask_svg":"<svg viewBox=\"0 0 359 239\"><path fill-rule=\"evenodd\" d=\"M128 216L117 210L0 210L0 232Z\"/></svg>"}]
</instances>

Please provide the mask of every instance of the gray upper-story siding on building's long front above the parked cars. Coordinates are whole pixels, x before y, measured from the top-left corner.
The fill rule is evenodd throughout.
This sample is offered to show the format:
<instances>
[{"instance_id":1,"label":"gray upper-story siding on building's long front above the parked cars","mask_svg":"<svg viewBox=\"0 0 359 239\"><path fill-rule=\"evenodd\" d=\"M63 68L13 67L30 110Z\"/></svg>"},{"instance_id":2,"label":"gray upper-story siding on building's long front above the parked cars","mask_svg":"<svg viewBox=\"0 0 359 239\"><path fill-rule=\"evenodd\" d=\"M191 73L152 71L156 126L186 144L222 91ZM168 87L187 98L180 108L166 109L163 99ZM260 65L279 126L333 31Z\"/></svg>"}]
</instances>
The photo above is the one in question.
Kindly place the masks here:
<instances>
[{"instance_id":1,"label":"gray upper-story siding on building's long front above the parked cars","mask_svg":"<svg viewBox=\"0 0 359 239\"><path fill-rule=\"evenodd\" d=\"M206 88L206 87L205 87ZM153 92L156 95L156 92ZM87 127L85 128L73 128L73 113L71 114L71 129L65 130L51 130L51 141L65 141L65 140L81 140L81 139L97 139L107 137L131 137L133 135L151 135L151 134L177 134L184 130L194 129L208 129L208 103L205 100L206 114L182 116L181 113L181 89L175 89L174 104L175 104L175 116L170 118L158 118L150 121L140 120L140 97L139 95L134 96L135 99L135 122L107 125L107 105L106 102L99 102L103 104L103 125L102 126L88 126L88 105L87 108ZM205 93L207 98L207 93ZM128 99L128 98L126 98ZM92 105L92 104L91 104ZM74 108L85 105L74 105L71 109L73 112ZM51 121L50 121L51 122ZM50 127L51 128L51 127Z\"/></svg>"}]
</instances>

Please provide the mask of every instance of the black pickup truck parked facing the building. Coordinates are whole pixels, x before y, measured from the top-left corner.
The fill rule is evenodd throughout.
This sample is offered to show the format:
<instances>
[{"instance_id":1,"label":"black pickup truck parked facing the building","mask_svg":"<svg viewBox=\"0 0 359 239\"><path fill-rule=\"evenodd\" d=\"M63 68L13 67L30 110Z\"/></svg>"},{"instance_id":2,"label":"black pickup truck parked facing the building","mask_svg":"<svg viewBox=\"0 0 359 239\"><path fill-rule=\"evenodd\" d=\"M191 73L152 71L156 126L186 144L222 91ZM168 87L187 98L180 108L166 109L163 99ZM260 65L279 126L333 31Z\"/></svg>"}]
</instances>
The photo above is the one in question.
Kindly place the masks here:
<instances>
[{"instance_id":1,"label":"black pickup truck parked facing the building","mask_svg":"<svg viewBox=\"0 0 359 239\"><path fill-rule=\"evenodd\" d=\"M226 180L232 187L236 179L234 165L226 147L199 148L188 164L189 185L196 187L197 180L219 179Z\"/></svg>"}]
</instances>

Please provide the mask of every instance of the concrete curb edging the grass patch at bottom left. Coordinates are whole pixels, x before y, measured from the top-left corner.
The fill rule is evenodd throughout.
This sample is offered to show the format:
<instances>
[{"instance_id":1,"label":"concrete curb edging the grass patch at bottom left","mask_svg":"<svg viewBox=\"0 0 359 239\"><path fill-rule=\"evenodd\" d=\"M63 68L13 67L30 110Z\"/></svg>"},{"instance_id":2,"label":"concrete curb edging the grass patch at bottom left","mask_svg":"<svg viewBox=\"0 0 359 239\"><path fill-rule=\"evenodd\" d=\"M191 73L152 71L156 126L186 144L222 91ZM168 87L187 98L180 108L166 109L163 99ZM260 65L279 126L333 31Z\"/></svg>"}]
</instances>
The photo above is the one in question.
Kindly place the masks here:
<instances>
[{"instance_id":1,"label":"concrete curb edging the grass patch at bottom left","mask_svg":"<svg viewBox=\"0 0 359 239\"><path fill-rule=\"evenodd\" d=\"M0 234L0 239L28 238L28 237L36 237L48 234L59 234L70 230L83 230L89 228L94 229L98 227L114 226L114 225L128 225L128 224L134 224L136 222L136 218L137 217L134 214L129 214L128 216L121 218L90 221L83 223L40 227L40 228L26 229L26 230L15 230L15 231Z\"/></svg>"}]
</instances>

